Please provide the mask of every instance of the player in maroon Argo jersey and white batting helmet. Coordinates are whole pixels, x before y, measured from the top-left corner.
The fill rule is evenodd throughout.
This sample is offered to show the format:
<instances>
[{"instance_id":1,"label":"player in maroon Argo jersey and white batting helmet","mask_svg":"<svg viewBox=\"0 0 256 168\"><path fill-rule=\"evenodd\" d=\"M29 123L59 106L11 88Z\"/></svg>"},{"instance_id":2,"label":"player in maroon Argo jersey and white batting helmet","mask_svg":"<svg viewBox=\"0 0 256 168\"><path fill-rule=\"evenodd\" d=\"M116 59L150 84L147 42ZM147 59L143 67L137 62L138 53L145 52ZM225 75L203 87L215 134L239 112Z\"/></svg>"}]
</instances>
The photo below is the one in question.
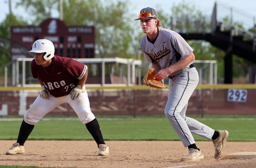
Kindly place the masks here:
<instances>
[{"instance_id":1,"label":"player in maroon Argo jersey and white batting helmet","mask_svg":"<svg viewBox=\"0 0 256 168\"><path fill-rule=\"evenodd\" d=\"M24 143L35 124L60 104L69 103L97 143L98 155L109 155L109 146L105 144L100 125L90 110L85 90L88 67L71 58L54 55L55 48L50 40L36 40L29 52L33 52L34 57L32 76L38 79L42 90L24 114L17 142L6 154L23 154Z\"/></svg>"}]
</instances>

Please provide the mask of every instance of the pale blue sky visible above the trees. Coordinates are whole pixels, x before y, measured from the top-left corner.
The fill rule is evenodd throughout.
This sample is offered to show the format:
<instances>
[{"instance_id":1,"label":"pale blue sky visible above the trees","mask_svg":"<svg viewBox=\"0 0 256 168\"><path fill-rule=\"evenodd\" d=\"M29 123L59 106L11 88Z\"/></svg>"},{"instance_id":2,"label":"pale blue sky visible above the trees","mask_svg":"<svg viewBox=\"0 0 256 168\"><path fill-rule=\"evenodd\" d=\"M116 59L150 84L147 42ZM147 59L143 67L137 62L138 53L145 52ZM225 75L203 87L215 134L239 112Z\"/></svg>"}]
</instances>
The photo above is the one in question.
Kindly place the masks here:
<instances>
[{"instance_id":1,"label":"pale blue sky visible above the trees","mask_svg":"<svg viewBox=\"0 0 256 168\"><path fill-rule=\"evenodd\" d=\"M14 14L28 17L28 14L24 9L20 7L15 8L15 3L18 2L18 0L11 1L12 12ZM181 1L182 0L129 0L131 9L133 9L133 11L131 11L133 14L139 14L140 9L144 7L152 7L154 9L161 7L161 9L163 10L171 11L171 7L173 6L173 4L177 5ZM5 18L5 15L9 13L8 2L9 0L0 0L0 22L2 22ZM203 14L210 16L216 0L185 0L185 2L191 3L192 5L196 6L197 9L199 9L201 12L203 12ZM256 0L218 0L217 2L228 5L228 7L233 7L234 10L238 11L237 13L241 13L241 15L243 16L248 16L250 20L246 21L246 24L251 24L251 19L253 17L256 17ZM55 12L54 17L59 17L59 14Z\"/></svg>"}]
</instances>

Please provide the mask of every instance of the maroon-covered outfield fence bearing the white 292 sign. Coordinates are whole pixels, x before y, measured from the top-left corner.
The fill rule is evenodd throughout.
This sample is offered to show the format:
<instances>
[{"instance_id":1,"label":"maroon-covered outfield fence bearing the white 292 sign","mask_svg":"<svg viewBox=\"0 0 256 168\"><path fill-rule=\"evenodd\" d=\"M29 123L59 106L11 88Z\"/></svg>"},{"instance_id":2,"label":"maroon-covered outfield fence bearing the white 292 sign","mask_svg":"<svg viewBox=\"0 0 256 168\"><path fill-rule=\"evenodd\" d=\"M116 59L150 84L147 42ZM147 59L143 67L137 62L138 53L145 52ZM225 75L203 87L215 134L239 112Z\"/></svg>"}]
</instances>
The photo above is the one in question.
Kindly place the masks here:
<instances>
[{"instance_id":1,"label":"maroon-covered outfield fence bearing the white 292 sign","mask_svg":"<svg viewBox=\"0 0 256 168\"><path fill-rule=\"evenodd\" d=\"M199 86L192 94L187 114L256 114L256 86L240 89L230 85L215 88ZM39 94L39 90L0 91L0 116L23 115ZM91 110L95 115L159 115L164 114L168 89L88 90ZM49 115L76 115L69 104L62 104Z\"/></svg>"}]
</instances>

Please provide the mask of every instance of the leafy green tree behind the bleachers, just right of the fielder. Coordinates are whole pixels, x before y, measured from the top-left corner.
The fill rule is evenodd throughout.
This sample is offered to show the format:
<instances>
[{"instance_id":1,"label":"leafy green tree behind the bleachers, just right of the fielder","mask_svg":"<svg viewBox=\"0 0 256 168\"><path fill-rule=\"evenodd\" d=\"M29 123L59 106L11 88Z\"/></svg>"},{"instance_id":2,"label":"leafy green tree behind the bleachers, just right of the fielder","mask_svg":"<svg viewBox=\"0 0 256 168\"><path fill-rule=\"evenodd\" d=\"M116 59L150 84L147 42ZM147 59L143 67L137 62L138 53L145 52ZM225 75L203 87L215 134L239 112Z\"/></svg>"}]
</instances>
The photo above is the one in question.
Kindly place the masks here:
<instances>
[{"instance_id":1,"label":"leafy green tree behind the bleachers, just right of the fielder","mask_svg":"<svg viewBox=\"0 0 256 168\"><path fill-rule=\"evenodd\" d=\"M210 20L210 17L207 18L204 16L195 5L191 4L191 2L182 0L178 4L173 4L171 11L173 13L172 19L174 19L175 23L173 30L178 33L184 33L187 32L187 30L189 32L201 33L204 30L211 29L211 23L208 21L208 19ZM205 18L205 20L202 18ZM186 24L192 21L194 21L194 25ZM204 25L204 27L202 25ZM195 28L196 26L197 28ZM218 78L222 78L224 76L223 59L225 57L225 53L222 50L213 47L209 42L204 40L188 40L188 43L194 49L193 52L197 60L217 60L217 76Z\"/></svg>"}]
</instances>

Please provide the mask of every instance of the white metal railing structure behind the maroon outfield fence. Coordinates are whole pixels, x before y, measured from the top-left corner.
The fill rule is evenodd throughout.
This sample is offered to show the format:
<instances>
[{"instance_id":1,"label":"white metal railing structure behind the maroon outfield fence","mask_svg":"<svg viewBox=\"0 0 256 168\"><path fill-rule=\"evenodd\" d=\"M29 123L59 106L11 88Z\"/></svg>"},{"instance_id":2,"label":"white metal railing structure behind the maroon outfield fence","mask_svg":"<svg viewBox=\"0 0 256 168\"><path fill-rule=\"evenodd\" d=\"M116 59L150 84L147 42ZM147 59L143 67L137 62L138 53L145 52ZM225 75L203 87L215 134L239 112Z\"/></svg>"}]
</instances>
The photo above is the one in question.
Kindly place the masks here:
<instances>
[{"instance_id":1,"label":"white metal railing structure behind the maroon outfield fence","mask_svg":"<svg viewBox=\"0 0 256 168\"><path fill-rule=\"evenodd\" d=\"M18 58L14 62L9 62L4 66L5 69L5 79L4 86L17 86L17 87L40 87L38 81L35 80L31 75L30 63L33 58ZM131 86L140 85L143 74L142 71L142 61L134 59L124 59L124 58L95 58L95 59L76 59L86 65L92 64L97 66L92 66L90 69L92 76L95 73L95 69L100 68L101 70L101 83L91 84L93 86ZM119 77L125 78L125 83L105 83L106 69L111 66L111 72L108 74L110 77L114 75L114 72L118 71ZM199 84L217 84L217 61L216 60L195 60L194 64L199 72ZM106 66L107 65L107 66ZM116 67L116 65L118 65ZM120 65L120 66L119 66ZM2 67L3 68L3 67ZM9 72L9 73L8 73ZM139 81L136 83L136 80ZM168 83L168 79L164 81ZM90 84L87 84L90 86Z\"/></svg>"}]
</instances>

